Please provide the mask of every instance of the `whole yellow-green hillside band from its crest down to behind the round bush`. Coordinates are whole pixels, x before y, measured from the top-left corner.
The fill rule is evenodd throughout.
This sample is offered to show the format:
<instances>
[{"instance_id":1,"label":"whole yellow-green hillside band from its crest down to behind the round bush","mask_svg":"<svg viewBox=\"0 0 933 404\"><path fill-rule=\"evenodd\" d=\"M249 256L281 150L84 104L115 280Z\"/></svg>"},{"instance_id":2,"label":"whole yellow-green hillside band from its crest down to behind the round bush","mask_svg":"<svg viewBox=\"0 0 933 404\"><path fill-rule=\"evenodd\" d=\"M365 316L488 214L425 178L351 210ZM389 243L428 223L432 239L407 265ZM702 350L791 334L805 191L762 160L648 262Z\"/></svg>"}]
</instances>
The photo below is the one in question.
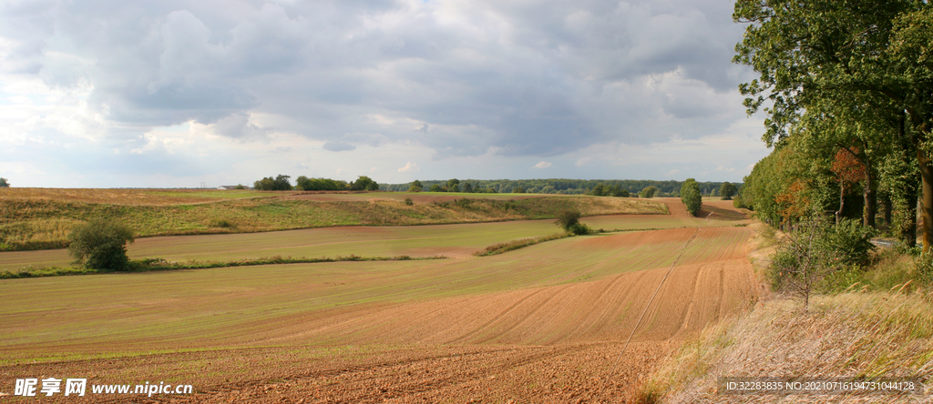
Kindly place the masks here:
<instances>
[{"instance_id":1,"label":"whole yellow-green hillside band from its crest down to behind the round bush","mask_svg":"<svg viewBox=\"0 0 933 404\"><path fill-rule=\"evenodd\" d=\"M10 189L13 191L0 190L0 251L63 248L75 225L94 218L123 222L137 236L174 236L349 225L549 219L564 209L577 209L585 216L667 213L663 204L654 201L581 196L452 194L408 206L403 202L404 197L419 196L406 193ZM336 199L314 199L325 196ZM113 200L102 202L107 198Z\"/></svg>"}]
</instances>

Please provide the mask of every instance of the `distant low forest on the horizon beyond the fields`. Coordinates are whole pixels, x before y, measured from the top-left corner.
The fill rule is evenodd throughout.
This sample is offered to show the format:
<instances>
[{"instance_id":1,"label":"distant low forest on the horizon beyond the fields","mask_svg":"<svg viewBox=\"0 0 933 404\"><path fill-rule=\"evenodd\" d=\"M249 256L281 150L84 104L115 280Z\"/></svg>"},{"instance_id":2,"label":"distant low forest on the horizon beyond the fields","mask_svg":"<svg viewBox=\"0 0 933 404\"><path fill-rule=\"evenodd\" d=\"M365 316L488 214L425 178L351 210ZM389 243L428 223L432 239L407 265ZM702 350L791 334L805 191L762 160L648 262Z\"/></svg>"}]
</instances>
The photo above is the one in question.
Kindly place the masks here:
<instances>
[{"instance_id":1,"label":"distant low forest on the horizon beyond the fields","mask_svg":"<svg viewBox=\"0 0 933 404\"><path fill-rule=\"evenodd\" d=\"M425 192L429 191L433 185L446 187L448 180L421 180ZM646 180L460 180L462 186L469 182L473 189L491 189L497 193L510 193L515 188L522 188L529 194L565 194L565 195L585 195L590 194L596 185L619 186L628 190L631 195L638 194L642 189L653 186L658 189L655 196L680 196L680 187L682 181L646 181ZM703 195L717 196L722 182L697 182L700 185L700 191ZM733 183L736 188L742 188L742 183ZM379 189L382 191L404 192L411 187L411 182L406 183L381 183Z\"/></svg>"}]
</instances>

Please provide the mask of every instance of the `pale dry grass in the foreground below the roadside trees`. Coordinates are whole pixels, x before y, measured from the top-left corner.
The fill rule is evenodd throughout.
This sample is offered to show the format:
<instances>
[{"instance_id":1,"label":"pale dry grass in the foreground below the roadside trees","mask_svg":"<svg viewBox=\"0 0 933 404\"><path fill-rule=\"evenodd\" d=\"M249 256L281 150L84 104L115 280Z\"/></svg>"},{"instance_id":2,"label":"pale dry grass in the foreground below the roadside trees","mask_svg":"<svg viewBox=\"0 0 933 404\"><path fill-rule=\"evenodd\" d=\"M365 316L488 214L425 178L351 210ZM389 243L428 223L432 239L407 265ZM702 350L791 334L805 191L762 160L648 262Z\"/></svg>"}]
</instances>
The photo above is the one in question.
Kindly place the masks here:
<instances>
[{"instance_id":1,"label":"pale dry grass in the foreground below the roadside trees","mask_svg":"<svg viewBox=\"0 0 933 404\"><path fill-rule=\"evenodd\" d=\"M933 291L773 300L708 327L651 378L662 402L928 402L917 396L725 396L718 377L921 377L933 373ZM868 401L865 401L865 400ZM796 400L796 401L795 401Z\"/></svg>"}]
</instances>

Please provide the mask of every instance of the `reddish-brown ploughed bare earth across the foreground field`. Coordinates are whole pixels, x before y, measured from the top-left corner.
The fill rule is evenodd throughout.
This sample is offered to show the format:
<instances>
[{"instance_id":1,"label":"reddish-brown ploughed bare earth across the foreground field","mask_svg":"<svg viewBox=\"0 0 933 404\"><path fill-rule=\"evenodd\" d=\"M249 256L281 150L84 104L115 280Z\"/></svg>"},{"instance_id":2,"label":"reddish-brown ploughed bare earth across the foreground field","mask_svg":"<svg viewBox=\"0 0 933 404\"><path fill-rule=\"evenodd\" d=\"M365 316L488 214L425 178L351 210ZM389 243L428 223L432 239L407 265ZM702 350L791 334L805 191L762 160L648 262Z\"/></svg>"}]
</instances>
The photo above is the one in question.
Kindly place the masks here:
<instances>
[{"instance_id":1,"label":"reddish-brown ploughed bare earth across the foreground field","mask_svg":"<svg viewBox=\"0 0 933 404\"><path fill-rule=\"evenodd\" d=\"M743 220L728 201L706 212ZM665 200L686 217L682 205ZM701 215L703 216L703 214ZM727 219L723 219L727 220ZM0 367L18 377L88 376L98 383L170 380L191 396L59 397L66 402L591 403L633 402L638 386L684 338L754 299L745 240L703 255L704 240L747 228L703 228L688 264L589 281L374 303L291 316L256 328L243 347ZM599 236L586 250L628 249L695 229ZM464 258L464 260L477 258ZM625 263L618 263L624 265ZM647 307L647 311L646 311ZM635 322L633 342L622 346ZM0 337L2 342L2 337ZM49 346L54 350L54 346ZM35 376L30 376L35 375ZM78 376L75 376L78 377ZM5 397L8 398L8 397ZM67 399L65 399L67 398Z\"/></svg>"}]
</instances>

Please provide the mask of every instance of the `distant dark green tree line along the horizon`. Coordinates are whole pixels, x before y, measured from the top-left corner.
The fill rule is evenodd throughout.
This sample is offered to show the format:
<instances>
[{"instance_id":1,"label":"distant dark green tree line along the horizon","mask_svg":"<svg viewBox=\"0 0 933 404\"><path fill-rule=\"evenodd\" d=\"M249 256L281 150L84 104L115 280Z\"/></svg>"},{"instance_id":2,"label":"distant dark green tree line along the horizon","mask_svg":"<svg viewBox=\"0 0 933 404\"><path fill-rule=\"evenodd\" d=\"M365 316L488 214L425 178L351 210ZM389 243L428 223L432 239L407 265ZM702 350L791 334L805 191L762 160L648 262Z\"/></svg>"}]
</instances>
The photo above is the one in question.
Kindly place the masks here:
<instances>
[{"instance_id":1,"label":"distant dark green tree line along the horizon","mask_svg":"<svg viewBox=\"0 0 933 404\"><path fill-rule=\"evenodd\" d=\"M599 196L680 196L684 182L645 180L416 180L407 183L382 184L383 191L392 192L464 192L464 193L517 193L564 194ZM700 194L720 196L724 183L697 182ZM739 184L730 184L732 195Z\"/></svg>"}]
</instances>

